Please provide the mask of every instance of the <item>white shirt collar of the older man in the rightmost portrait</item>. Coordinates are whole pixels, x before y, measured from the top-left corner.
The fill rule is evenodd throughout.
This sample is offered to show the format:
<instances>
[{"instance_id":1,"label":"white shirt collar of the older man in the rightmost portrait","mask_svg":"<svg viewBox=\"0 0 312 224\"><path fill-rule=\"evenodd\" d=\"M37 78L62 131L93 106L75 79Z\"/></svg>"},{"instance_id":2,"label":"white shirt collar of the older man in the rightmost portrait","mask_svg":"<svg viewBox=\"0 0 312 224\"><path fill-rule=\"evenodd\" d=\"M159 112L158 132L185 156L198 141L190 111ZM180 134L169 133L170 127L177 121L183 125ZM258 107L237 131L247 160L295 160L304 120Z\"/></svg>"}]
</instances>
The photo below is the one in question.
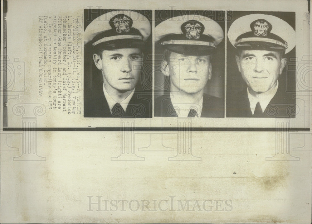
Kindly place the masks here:
<instances>
[{"instance_id":1,"label":"white shirt collar of the older man in the rightmost portrait","mask_svg":"<svg viewBox=\"0 0 312 224\"><path fill-rule=\"evenodd\" d=\"M256 96L251 95L249 93L248 88L247 88L247 95L248 95L248 99L250 102L251 113L254 114L255 109L256 109L256 104L258 102L260 102L262 112L264 112L266 110L266 107L269 105L271 99L275 96L277 89L278 89L278 80L276 82L275 87L272 87L271 89L269 89L265 93L260 93Z\"/></svg>"}]
</instances>

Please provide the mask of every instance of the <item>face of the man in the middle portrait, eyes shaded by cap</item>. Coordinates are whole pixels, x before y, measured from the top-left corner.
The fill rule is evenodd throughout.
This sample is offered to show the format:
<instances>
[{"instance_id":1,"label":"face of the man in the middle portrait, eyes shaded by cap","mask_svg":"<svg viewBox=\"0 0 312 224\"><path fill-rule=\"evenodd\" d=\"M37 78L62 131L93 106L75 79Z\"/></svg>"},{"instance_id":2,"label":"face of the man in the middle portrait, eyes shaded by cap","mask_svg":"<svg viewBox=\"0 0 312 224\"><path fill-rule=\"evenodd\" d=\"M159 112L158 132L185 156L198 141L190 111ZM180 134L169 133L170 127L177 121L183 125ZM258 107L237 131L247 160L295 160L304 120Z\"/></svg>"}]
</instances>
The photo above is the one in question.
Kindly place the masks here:
<instances>
[{"instance_id":1,"label":"face of the man in the middle portrait, eyes shaded by cap","mask_svg":"<svg viewBox=\"0 0 312 224\"><path fill-rule=\"evenodd\" d=\"M172 52L168 69L172 92L198 93L211 79L209 55L193 56Z\"/></svg>"}]
</instances>

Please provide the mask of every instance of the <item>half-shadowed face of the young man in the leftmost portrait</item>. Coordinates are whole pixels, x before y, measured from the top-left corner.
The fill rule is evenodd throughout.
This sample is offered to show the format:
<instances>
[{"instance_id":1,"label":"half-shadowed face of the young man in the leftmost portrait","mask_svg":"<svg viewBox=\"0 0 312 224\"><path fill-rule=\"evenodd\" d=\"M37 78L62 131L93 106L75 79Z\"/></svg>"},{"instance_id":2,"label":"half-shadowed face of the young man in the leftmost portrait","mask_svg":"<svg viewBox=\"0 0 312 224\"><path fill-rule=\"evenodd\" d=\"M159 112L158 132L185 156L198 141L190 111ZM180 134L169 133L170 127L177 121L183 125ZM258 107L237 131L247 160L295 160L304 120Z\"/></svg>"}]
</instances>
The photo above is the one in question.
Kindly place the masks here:
<instances>
[{"instance_id":1,"label":"half-shadowed face of the young man in the leftmost portrait","mask_svg":"<svg viewBox=\"0 0 312 224\"><path fill-rule=\"evenodd\" d=\"M120 93L133 90L139 81L142 67L142 52L138 48L104 50L102 59L94 54L93 59L102 71L105 88L114 88Z\"/></svg>"}]
</instances>

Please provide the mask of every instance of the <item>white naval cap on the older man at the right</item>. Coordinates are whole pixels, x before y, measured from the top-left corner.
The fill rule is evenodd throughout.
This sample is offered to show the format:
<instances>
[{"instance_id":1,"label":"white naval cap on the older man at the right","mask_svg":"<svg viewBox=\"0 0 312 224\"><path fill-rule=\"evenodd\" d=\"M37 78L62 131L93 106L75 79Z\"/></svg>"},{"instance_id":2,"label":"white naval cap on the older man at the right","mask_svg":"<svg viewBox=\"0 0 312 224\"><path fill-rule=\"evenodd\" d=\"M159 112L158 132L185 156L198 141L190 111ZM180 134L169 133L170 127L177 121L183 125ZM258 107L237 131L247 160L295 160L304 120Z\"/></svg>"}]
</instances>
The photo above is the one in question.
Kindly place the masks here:
<instances>
[{"instance_id":1,"label":"white naval cap on the older man at the right","mask_svg":"<svg viewBox=\"0 0 312 224\"><path fill-rule=\"evenodd\" d=\"M285 50L295 47L295 31L284 20L265 14L251 14L236 19L227 33L235 48Z\"/></svg>"}]
</instances>

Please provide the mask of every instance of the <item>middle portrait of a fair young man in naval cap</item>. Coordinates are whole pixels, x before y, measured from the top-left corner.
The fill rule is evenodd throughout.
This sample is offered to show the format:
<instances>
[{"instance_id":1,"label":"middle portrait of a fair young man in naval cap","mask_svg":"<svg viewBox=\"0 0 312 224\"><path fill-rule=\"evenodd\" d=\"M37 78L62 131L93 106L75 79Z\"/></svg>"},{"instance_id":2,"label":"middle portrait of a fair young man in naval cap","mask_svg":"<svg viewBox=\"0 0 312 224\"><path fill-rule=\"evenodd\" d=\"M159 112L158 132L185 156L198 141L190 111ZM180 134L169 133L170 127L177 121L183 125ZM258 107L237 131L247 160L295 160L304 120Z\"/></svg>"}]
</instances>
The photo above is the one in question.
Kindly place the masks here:
<instances>
[{"instance_id":1,"label":"middle portrait of a fair young man in naval cap","mask_svg":"<svg viewBox=\"0 0 312 224\"><path fill-rule=\"evenodd\" d=\"M212 61L223 37L222 27L202 14L170 17L155 27L155 49L161 49L162 55L158 68L168 80L168 91L161 96L155 87L155 117L224 117L224 100L214 94L224 92L224 58L214 58L221 61L221 68ZM218 75L217 70L221 70ZM212 79L217 80L216 88L210 83L208 91L214 95L205 93ZM155 68L155 85L166 84L157 81Z\"/></svg>"}]
</instances>

